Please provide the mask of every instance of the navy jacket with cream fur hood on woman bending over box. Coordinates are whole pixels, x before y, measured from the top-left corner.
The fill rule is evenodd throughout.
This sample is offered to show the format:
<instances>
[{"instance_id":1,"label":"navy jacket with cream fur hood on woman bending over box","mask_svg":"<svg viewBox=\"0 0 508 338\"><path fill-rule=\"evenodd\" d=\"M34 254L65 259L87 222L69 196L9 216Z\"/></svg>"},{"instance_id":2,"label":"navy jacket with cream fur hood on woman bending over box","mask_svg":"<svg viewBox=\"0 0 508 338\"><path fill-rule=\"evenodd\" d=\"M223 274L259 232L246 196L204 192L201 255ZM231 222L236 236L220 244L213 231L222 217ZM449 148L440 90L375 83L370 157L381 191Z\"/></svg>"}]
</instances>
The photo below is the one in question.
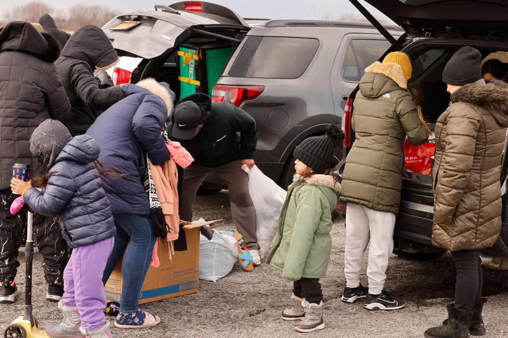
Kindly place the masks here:
<instances>
[{"instance_id":1,"label":"navy jacket with cream fur hood on woman bending over box","mask_svg":"<svg viewBox=\"0 0 508 338\"><path fill-rule=\"evenodd\" d=\"M101 147L99 161L117 174L103 178L113 214L150 215L143 188L146 154L153 164L170 159L161 135L172 110L173 99L167 88L153 79L122 86L125 98L102 113L86 131Z\"/></svg>"}]
</instances>

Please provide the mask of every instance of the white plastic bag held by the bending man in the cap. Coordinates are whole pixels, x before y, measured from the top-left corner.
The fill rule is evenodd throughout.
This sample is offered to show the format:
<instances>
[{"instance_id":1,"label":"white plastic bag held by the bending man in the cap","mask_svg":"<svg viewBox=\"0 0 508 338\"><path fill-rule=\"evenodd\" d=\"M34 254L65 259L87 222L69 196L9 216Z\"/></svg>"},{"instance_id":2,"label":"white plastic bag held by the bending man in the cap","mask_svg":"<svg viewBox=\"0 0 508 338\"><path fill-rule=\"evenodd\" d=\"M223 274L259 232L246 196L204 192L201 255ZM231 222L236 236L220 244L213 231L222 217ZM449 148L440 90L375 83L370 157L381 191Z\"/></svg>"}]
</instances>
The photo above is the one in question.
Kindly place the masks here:
<instances>
[{"instance_id":1,"label":"white plastic bag held by the bending man in the cap","mask_svg":"<svg viewBox=\"0 0 508 338\"><path fill-rule=\"evenodd\" d=\"M263 258L272 245L279 226L279 216L287 192L263 174L255 165L249 170L249 194L256 209L256 236Z\"/></svg>"}]
</instances>

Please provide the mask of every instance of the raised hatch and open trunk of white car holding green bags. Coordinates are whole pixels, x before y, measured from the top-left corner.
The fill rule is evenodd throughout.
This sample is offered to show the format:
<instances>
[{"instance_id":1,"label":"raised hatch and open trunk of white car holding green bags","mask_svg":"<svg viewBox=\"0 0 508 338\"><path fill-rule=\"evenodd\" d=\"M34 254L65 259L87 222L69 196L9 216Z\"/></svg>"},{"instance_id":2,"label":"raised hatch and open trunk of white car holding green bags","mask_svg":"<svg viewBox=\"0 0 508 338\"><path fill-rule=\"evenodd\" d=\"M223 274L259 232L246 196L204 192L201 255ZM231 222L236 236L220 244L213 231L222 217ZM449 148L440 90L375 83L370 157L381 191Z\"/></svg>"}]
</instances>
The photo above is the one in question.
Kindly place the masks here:
<instances>
[{"instance_id":1,"label":"raised hatch and open trunk of white car holding green bags","mask_svg":"<svg viewBox=\"0 0 508 338\"><path fill-rule=\"evenodd\" d=\"M112 76L115 84L154 77L169 83L179 99L211 94L250 26L226 7L179 2L123 13L102 29L121 57Z\"/></svg>"}]
</instances>

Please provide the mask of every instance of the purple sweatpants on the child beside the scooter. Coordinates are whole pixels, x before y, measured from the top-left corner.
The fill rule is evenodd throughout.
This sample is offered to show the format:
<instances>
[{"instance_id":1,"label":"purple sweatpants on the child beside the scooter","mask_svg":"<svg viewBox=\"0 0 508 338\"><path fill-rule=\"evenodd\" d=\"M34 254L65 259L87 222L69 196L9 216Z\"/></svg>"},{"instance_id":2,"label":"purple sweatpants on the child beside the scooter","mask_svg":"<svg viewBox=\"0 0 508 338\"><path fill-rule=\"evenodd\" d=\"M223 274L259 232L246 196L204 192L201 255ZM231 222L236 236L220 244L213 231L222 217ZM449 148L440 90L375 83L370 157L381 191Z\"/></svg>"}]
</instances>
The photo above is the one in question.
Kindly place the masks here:
<instances>
[{"instance_id":1,"label":"purple sweatpants on the child beside the scooter","mask_svg":"<svg viewBox=\"0 0 508 338\"><path fill-rule=\"evenodd\" d=\"M106 323L106 296L102 275L113 249L114 237L72 250L71 259L63 271L63 305L78 307L81 326L97 330Z\"/></svg>"}]
</instances>

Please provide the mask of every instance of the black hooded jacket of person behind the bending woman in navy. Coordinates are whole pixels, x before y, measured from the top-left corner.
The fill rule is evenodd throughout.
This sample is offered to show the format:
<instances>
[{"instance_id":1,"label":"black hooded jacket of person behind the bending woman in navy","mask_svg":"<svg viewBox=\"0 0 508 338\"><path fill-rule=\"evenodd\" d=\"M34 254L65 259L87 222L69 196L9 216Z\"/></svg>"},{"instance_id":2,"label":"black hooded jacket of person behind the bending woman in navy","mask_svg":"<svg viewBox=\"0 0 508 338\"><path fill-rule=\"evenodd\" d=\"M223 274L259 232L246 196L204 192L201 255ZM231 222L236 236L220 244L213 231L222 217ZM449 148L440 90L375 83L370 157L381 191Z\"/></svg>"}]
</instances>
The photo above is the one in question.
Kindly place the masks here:
<instances>
[{"instance_id":1,"label":"black hooded jacket of person behind the bending woman in navy","mask_svg":"<svg viewBox=\"0 0 508 338\"><path fill-rule=\"evenodd\" d=\"M120 86L100 88L95 69L107 69L118 62L113 45L97 26L84 26L71 36L55 62L72 107L67 128L81 135L103 111L123 98Z\"/></svg>"}]
</instances>

